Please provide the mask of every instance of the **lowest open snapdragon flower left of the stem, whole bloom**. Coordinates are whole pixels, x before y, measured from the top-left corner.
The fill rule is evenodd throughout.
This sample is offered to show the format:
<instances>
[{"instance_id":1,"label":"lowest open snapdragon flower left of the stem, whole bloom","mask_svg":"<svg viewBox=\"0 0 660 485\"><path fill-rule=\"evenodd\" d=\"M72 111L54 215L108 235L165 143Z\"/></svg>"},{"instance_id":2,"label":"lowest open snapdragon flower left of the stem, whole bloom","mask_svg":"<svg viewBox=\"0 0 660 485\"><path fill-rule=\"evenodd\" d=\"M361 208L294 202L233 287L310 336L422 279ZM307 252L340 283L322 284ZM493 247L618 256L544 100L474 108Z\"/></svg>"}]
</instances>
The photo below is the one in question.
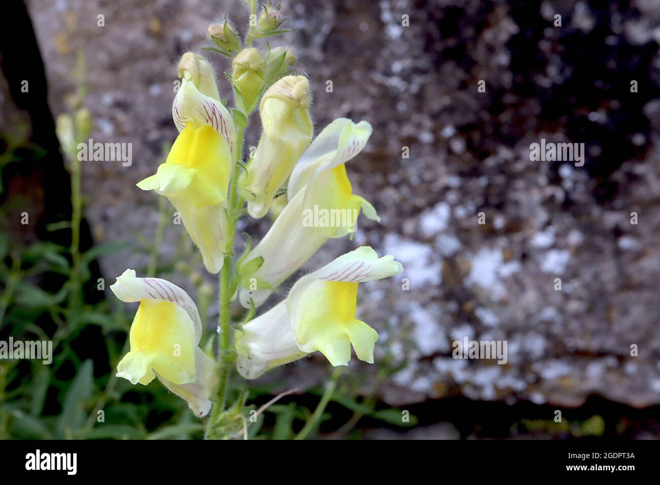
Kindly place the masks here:
<instances>
[{"instance_id":1,"label":"lowest open snapdragon flower left of the stem, whole bloom","mask_svg":"<svg viewBox=\"0 0 660 485\"><path fill-rule=\"evenodd\" d=\"M140 302L117 377L149 384L154 377L185 399L196 416L211 409L215 361L199 348L202 328L197 306L178 286L160 278L137 278L127 269L110 289L122 302Z\"/></svg>"}]
</instances>

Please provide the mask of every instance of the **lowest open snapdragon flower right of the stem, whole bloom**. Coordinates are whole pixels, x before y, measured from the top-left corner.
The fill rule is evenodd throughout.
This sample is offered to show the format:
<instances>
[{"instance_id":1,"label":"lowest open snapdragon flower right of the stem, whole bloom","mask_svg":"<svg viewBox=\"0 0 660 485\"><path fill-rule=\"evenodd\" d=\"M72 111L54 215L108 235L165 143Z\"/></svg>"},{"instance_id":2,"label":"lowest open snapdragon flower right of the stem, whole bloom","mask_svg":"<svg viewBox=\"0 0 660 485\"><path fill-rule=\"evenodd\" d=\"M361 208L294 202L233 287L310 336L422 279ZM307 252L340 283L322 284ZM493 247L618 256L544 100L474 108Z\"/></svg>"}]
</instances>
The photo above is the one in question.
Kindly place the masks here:
<instances>
[{"instance_id":1,"label":"lowest open snapdragon flower right of the stem, whole bloom","mask_svg":"<svg viewBox=\"0 0 660 485\"><path fill-rule=\"evenodd\" d=\"M373 364L378 333L355 317L358 285L401 271L392 255L379 258L362 246L302 276L286 300L236 331L238 372L255 379L315 351L333 366L346 366L351 345L358 359Z\"/></svg>"}]
</instances>

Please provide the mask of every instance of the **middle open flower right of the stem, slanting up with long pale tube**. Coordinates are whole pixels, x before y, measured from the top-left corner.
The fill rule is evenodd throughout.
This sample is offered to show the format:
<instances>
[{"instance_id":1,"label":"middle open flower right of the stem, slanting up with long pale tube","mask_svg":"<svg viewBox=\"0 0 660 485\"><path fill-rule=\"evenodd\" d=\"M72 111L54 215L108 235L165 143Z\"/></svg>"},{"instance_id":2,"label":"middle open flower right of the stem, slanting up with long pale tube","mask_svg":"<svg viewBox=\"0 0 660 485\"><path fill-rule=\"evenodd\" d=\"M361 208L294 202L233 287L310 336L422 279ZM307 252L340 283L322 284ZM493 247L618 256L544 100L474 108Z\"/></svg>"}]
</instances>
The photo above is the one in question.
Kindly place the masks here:
<instances>
[{"instance_id":1,"label":"middle open flower right of the stem, slanting up with long pale tube","mask_svg":"<svg viewBox=\"0 0 660 485\"><path fill-rule=\"evenodd\" d=\"M380 220L368 201L352 193L345 168L371 133L366 121L335 119L302 155L289 179L288 204L238 269L244 307L249 308L250 300L261 305L329 239L354 232L360 209L368 218ZM319 212L329 217L314 220Z\"/></svg>"}]
</instances>

